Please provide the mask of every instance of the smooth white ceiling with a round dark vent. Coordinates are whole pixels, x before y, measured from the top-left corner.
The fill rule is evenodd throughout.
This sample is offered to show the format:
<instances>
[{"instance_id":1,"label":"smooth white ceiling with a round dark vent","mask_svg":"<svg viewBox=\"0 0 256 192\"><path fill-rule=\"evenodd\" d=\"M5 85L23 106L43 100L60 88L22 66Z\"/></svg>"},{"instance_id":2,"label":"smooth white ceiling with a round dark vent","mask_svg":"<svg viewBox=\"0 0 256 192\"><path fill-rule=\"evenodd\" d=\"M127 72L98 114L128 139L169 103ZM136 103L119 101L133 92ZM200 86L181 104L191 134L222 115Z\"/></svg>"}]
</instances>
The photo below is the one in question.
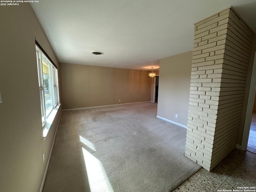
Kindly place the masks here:
<instances>
[{"instance_id":1,"label":"smooth white ceiling with a round dark vent","mask_svg":"<svg viewBox=\"0 0 256 192\"><path fill-rule=\"evenodd\" d=\"M159 59L193 49L195 22L229 6L256 32L256 0L39 0L31 6L59 62L72 64L158 68Z\"/></svg>"}]
</instances>

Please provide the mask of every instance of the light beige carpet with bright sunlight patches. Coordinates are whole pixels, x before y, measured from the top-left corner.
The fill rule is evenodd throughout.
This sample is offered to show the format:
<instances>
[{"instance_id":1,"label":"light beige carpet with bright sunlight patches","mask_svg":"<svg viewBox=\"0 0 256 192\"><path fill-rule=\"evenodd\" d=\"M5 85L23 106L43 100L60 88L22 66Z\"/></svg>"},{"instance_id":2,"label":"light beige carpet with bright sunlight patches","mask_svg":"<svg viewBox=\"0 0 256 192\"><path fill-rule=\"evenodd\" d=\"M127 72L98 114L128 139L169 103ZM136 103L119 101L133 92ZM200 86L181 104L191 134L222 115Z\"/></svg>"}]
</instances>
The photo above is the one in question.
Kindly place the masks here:
<instances>
[{"instance_id":1,"label":"light beige carpet with bright sunlight patches","mask_svg":"<svg viewBox=\"0 0 256 192\"><path fill-rule=\"evenodd\" d=\"M44 192L169 192L200 166L157 104L64 111Z\"/></svg>"}]
</instances>

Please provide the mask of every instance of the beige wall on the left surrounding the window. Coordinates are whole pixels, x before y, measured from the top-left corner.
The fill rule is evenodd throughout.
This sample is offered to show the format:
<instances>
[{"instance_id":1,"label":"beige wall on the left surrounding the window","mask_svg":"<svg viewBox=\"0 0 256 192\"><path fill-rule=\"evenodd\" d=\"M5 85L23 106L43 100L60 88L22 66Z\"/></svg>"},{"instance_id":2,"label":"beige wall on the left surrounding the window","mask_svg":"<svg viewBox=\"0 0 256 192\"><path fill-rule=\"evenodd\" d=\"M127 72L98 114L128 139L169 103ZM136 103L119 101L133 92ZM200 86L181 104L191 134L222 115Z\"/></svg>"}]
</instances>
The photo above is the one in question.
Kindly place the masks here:
<instances>
[{"instance_id":1,"label":"beige wall on the left surrounding the window","mask_svg":"<svg viewBox=\"0 0 256 192\"><path fill-rule=\"evenodd\" d=\"M29 3L0 9L0 191L38 192L61 108L44 141L35 38L58 61Z\"/></svg>"}]
</instances>

